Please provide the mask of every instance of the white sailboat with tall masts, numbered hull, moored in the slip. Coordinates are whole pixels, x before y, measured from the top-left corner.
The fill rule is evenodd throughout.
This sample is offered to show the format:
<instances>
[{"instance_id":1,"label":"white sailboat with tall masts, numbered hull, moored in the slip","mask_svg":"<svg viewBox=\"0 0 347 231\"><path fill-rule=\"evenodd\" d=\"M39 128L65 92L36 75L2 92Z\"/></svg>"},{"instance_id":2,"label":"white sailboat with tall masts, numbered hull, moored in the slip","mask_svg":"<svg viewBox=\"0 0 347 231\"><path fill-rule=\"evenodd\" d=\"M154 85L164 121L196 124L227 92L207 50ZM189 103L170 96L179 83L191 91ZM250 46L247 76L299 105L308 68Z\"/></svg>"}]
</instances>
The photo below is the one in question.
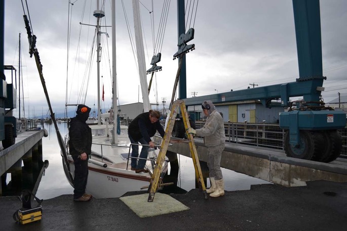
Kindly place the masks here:
<instances>
[{"instance_id":1,"label":"white sailboat with tall masts, numbered hull, moored in the slip","mask_svg":"<svg viewBox=\"0 0 347 231\"><path fill-rule=\"evenodd\" d=\"M99 19L104 16L104 12L99 10L99 4L97 0L97 10L94 11L94 16L97 17L97 30L98 37L97 43L100 44L100 26ZM125 194L127 191L137 191L141 187L149 185L151 179L151 174L155 165L156 156L159 153L159 150L150 150L148 153L148 160L145 168L148 169L148 173L135 173L135 171L130 170L130 160L131 156L131 143L128 138L128 128L123 125L117 124L117 80L116 80L116 70L115 70L115 16L114 8L115 1L112 1L112 59L113 59L113 69L112 69L112 79L113 79L113 121L112 124L105 123L101 124L101 115L98 113L98 125L90 126L92 129L93 135L93 144L92 144L92 155L88 163L89 175L88 183L86 187L86 192L92 194L95 198L115 198L120 197ZM133 6L136 9L138 8L138 1L133 1ZM134 11L136 11L134 9ZM139 20L136 20L134 16L134 21L136 23ZM138 26L141 28L141 26ZM138 33L141 35L141 33ZM143 49L143 45L142 45ZM100 49L97 49L99 52ZM139 53L139 52L138 52ZM99 57L99 54L98 54ZM144 58L144 57L143 57ZM98 63L99 64L99 63ZM144 59L143 59L144 64ZM142 66L143 72L142 78L145 78L145 65ZM143 92L143 102L144 110L148 111L150 109L149 98L147 93L147 82L146 79L142 80L141 88ZM99 92L99 66L98 66L98 103L100 102L100 92ZM100 111L100 105L98 105L98 111ZM118 128L120 126L120 129ZM117 131L120 131L120 134L117 134ZM68 138L65 139L67 144ZM160 143L158 143L158 146ZM72 157L67 155L67 163L64 162L63 166L67 179L70 184L73 186L71 176L73 177L74 173L74 164ZM69 165L69 166L67 166ZM167 171L168 159L164 162L162 169L162 176ZM69 168L68 168L69 167ZM68 170L69 169L69 170Z\"/></svg>"}]
</instances>

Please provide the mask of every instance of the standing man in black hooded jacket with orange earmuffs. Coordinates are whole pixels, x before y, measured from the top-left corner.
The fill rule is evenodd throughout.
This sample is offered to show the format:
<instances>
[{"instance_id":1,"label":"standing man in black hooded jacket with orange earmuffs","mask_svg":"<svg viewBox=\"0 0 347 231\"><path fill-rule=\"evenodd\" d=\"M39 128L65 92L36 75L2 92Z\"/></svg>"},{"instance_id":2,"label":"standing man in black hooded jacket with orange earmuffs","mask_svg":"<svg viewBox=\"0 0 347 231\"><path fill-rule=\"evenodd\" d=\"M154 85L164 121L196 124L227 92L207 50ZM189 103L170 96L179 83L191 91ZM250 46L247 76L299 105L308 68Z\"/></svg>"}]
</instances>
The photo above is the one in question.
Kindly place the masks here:
<instances>
[{"instance_id":1,"label":"standing man in black hooded jacket with orange earmuffs","mask_svg":"<svg viewBox=\"0 0 347 231\"><path fill-rule=\"evenodd\" d=\"M88 159L92 151L92 130L86 123L90 110L86 105L78 105L76 116L70 121L69 150L74 162L74 201L89 201L92 198L92 195L86 194Z\"/></svg>"}]
</instances>

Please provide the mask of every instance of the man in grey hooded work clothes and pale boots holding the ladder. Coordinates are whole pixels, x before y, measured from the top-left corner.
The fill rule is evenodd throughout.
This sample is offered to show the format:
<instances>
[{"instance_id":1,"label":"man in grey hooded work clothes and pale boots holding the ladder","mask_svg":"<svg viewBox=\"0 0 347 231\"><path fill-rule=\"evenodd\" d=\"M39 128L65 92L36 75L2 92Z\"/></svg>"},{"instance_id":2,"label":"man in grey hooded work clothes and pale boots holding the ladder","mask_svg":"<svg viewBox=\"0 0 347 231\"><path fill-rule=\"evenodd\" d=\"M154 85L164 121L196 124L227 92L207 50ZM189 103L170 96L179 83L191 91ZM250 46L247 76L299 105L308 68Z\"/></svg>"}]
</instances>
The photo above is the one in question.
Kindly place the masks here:
<instances>
[{"instance_id":1,"label":"man in grey hooded work clothes and pale boots holding the ladder","mask_svg":"<svg viewBox=\"0 0 347 231\"><path fill-rule=\"evenodd\" d=\"M204 137L208 150L207 166L211 181L211 188L206 192L210 194L210 197L219 197L224 195L224 180L220 169L220 159L225 147L224 122L211 100L204 101L202 108L207 116L204 127L197 130L190 128L187 131L190 134Z\"/></svg>"}]
</instances>

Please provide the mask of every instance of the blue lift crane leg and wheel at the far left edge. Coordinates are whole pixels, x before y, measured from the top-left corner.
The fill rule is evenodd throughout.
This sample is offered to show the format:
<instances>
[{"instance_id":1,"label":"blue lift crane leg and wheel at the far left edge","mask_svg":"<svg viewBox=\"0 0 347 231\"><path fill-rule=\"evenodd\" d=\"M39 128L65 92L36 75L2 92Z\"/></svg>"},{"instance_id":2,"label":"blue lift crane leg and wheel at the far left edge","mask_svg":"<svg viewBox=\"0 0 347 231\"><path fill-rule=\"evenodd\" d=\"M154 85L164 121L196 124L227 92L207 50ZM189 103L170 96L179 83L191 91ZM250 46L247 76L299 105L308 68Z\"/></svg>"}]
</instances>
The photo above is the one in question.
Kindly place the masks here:
<instances>
[{"instance_id":1,"label":"blue lift crane leg and wheel at the far left edge","mask_svg":"<svg viewBox=\"0 0 347 231\"><path fill-rule=\"evenodd\" d=\"M0 140L3 147L8 148L16 141L17 120L12 116L12 110L16 108L17 89L12 83L6 82L4 73L4 27L5 27L5 0L0 1Z\"/></svg>"}]
</instances>

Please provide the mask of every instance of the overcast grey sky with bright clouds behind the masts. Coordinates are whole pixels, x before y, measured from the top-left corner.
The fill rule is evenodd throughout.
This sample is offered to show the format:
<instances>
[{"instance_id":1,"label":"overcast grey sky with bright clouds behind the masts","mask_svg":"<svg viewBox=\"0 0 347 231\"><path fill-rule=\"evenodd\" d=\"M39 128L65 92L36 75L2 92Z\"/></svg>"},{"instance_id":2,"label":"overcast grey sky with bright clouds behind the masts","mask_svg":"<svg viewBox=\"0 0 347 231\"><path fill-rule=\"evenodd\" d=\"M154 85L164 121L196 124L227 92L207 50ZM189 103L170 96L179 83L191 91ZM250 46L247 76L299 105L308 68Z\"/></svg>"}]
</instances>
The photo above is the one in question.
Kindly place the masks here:
<instances>
[{"instance_id":1,"label":"overcast grey sky with bright clouds behind the masts","mask_svg":"<svg viewBox=\"0 0 347 231\"><path fill-rule=\"evenodd\" d=\"M92 3L91 3L92 2ZM102 1L100 0L100 3ZM131 1L124 1L126 14L133 32L133 14ZM150 27L151 0L142 0L140 4L145 35L146 69L150 68L153 54ZM162 14L163 1L153 0L155 34ZM197 2L197 1L195 1ZM77 103L76 92L81 89L85 60L93 39L94 27L82 26L80 22L95 24L92 16L96 10L96 1L71 0L71 37L68 61L68 100ZM68 0L44 1L27 0L33 33L37 36L36 47L43 64L53 110L62 112L65 107L67 76L67 25ZM72 8L71 8L72 6ZM147 10L147 9L148 10ZM84 16L82 11L84 10ZM120 104L139 101L139 77L132 52L125 16L121 1L116 4L117 24L117 78ZM321 0L321 28L323 75L327 76L323 86L324 101L347 94L347 1ZM110 2L105 1L104 25L111 24ZM82 18L83 17L83 18ZM191 25L192 26L192 25ZM228 92L230 89L246 89L250 84L258 87L294 82L298 78L297 52L295 42L294 17L290 0L200 0L195 19L196 50L186 55L187 97L193 92L197 96ZM103 28L111 36L110 28ZM89 33L88 33L89 32ZM35 61L29 57L27 34L23 21L21 1L5 1L5 65L14 65L18 69L18 36L21 33L24 104L26 117L33 114L46 117L48 106L44 96ZM87 34L88 33L88 34ZM171 1L162 47L163 71L157 72L156 89L151 89L150 102L161 103L166 98L166 107L170 103L178 61L173 60L177 51L177 13L176 1ZM80 39L80 50L77 46ZM102 34L102 62L100 73L105 90L104 107L111 105L111 40ZM79 55L76 55L79 54ZM94 56L95 57L95 56ZM104 59L106 58L106 60ZM92 60L93 70L89 80L86 104L97 104L96 58ZM7 81L11 74L6 72ZM149 75L147 75L149 82ZM102 84L101 84L102 85ZM252 87L252 86L250 86ZM256 87L256 86L255 86ZM23 95L21 96L23 97ZM23 101L23 100L22 100ZM29 108L28 108L29 107ZM95 106L96 107L96 106ZM71 109L71 108L70 108ZM18 113L18 112L17 112Z\"/></svg>"}]
</instances>

